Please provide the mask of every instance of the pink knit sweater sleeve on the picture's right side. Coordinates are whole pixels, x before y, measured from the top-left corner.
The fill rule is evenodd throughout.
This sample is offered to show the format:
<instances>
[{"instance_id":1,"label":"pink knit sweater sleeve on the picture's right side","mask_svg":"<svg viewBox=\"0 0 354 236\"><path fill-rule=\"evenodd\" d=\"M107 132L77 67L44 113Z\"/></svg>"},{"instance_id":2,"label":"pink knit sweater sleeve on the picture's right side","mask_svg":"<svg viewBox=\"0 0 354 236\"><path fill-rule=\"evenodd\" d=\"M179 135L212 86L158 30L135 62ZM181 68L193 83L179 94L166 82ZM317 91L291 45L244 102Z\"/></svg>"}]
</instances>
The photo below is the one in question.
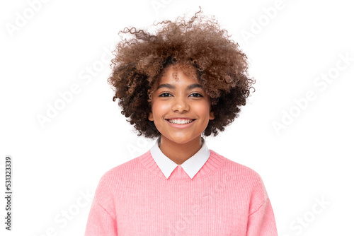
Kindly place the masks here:
<instances>
[{"instance_id":1,"label":"pink knit sweater sleeve on the picture's right side","mask_svg":"<svg viewBox=\"0 0 354 236\"><path fill-rule=\"evenodd\" d=\"M278 236L273 208L261 177L255 192L251 201L256 208L250 211L246 236Z\"/></svg>"}]
</instances>

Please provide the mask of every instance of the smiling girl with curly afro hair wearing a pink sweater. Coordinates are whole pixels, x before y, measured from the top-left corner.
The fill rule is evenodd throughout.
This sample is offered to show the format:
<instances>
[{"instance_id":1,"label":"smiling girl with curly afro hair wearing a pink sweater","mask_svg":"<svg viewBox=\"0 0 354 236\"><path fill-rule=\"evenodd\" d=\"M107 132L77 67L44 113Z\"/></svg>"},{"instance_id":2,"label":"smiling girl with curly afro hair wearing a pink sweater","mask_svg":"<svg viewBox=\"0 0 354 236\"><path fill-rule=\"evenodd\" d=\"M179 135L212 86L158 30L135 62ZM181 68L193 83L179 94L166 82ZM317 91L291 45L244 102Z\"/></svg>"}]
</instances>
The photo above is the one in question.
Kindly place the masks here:
<instances>
[{"instance_id":1,"label":"smiling girl with curly afro hair wearing a pink sweater","mask_svg":"<svg viewBox=\"0 0 354 236\"><path fill-rule=\"evenodd\" d=\"M277 235L261 177L205 143L239 116L254 80L239 45L200 13L156 34L120 32L132 38L115 50L113 101L138 136L157 139L103 175L86 236Z\"/></svg>"}]
</instances>

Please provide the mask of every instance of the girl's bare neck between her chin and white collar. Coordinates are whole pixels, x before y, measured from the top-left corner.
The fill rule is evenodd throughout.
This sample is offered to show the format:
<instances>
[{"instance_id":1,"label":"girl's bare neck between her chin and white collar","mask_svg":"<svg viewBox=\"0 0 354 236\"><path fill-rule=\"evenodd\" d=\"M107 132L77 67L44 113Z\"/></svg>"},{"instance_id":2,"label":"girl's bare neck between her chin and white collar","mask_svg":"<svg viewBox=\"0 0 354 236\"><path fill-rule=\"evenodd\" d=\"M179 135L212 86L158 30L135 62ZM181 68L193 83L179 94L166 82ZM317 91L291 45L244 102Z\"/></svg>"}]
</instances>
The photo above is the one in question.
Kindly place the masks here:
<instances>
[{"instance_id":1,"label":"girl's bare neck between her chin and white collar","mask_svg":"<svg viewBox=\"0 0 354 236\"><path fill-rule=\"evenodd\" d=\"M202 147L202 137L198 136L188 143L175 143L169 138L161 136L159 148L166 157L177 165L182 165L185 160L191 158Z\"/></svg>"}]
</instances>

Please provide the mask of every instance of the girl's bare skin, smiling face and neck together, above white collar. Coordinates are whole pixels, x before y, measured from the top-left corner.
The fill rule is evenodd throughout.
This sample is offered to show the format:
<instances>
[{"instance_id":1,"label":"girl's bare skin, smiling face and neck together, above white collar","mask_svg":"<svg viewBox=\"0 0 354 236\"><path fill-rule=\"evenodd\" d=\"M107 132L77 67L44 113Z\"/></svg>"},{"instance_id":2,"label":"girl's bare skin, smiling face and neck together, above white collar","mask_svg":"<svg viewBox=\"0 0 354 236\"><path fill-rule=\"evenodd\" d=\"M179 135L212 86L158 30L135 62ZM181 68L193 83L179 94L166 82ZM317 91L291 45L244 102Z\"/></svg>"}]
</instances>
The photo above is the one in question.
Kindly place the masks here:
<instances>
[{"instance_id":1,"label":"girl's bare skin, smiling face and neck together, above white collar","mask_svg":"<svg viewBox=\"0 0 354 236\"><path fill-rule=\"evenodd\" d=\"M181 165L201 148L201 134L214 119L210 98L193 77L176 66L167 66L152 97L149 120L159 130L159 148L174 163ZM176 68L177 67L177 68ZM193 74L194 73L194 74Z\"/></svg>"}]
</instances>

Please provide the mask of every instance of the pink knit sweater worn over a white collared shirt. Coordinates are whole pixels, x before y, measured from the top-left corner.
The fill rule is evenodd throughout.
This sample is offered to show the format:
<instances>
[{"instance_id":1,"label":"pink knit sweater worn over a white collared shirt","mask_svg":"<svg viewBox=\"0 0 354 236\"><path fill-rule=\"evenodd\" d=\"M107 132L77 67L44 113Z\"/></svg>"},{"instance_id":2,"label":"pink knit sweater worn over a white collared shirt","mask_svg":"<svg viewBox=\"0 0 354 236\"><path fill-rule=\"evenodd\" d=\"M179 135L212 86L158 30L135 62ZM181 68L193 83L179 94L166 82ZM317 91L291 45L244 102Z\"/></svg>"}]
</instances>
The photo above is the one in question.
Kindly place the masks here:
<instances>
[{"instance_id":1,"label":"pink knit sweater worn over a white collared shirt","mask_svg":"<svg viewBox=\"0 0 354 236\"><path fill-rule=\"evenodd\" d=\"M150 151L103 175L86 236L275 236L272 206L261 177L210 150L190 179L178 165L169 179Z\"/></svg>"}]
</instances>

